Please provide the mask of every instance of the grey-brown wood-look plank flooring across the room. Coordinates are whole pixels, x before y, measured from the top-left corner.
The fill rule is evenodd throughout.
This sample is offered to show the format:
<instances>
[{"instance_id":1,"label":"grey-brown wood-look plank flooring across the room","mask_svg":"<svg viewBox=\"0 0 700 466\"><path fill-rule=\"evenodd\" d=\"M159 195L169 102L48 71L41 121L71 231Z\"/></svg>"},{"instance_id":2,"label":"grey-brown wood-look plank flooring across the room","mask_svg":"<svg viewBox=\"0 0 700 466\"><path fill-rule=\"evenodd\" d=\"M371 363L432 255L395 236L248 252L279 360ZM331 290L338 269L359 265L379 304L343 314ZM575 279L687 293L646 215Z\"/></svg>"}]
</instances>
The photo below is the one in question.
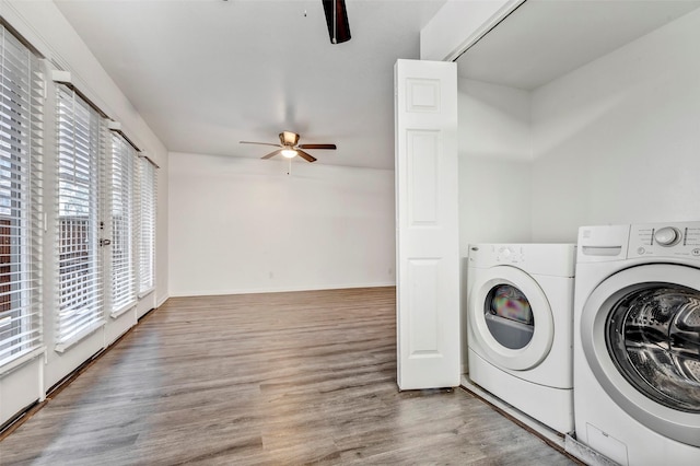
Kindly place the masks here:
<instances>
[{"instance_id":1,"label":"grey-brown wood-look plank flooring across the room","mask_svg":"<svg viewBox=\"0 0 700 466\"><path fill-rule=\"evenodd\" d=\"M573 465L468 392L398 392L394 288L174 298L2 465Z\"/></svg>"}]
</instances>

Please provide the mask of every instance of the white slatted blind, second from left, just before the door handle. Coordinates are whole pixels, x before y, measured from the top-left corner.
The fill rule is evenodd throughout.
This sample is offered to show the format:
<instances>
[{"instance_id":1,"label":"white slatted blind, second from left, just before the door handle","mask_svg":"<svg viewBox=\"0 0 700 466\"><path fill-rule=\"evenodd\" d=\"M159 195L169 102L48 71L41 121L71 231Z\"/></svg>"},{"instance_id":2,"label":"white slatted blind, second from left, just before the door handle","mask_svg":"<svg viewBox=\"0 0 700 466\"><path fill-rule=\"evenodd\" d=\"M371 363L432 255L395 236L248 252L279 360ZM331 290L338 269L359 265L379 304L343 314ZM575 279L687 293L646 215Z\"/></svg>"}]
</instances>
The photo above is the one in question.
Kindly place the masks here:
<instances>
[{"instance_id":1,"label":"white slatted blind, second from left, just before the door handle","mask_svg":"<svg viewBox=\"0 0 700 466\"><path fill-rule=\"evenodd\" d=\"M104 323L100 255L100 159L106 123L84 100L57 85L58 310L56 350Z\"/></svg>"}]
</instances>

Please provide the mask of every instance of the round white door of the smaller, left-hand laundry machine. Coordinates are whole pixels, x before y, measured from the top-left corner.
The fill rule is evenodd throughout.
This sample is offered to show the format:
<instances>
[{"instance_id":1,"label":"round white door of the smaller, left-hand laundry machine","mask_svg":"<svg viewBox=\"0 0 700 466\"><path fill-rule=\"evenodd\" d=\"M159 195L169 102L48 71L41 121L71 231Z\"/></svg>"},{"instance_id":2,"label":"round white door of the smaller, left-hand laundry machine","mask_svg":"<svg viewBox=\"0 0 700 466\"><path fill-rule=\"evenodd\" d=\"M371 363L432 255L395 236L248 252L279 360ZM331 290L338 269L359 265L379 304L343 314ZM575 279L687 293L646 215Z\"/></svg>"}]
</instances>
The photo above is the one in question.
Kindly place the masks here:
<instances>
[{"instance_id":1,"label":"round white door of the smaller, left-hand laundry machine","mask_svg":"<svg viewBox=\"0 0 700 466\"><path fill-rule=\"evenodd\" d=\"M551 350L551 306L537 281L523 270L474 269L467 306L469 338L494 364L513 371L538 365Z\"/></svg>"}]
</instances>

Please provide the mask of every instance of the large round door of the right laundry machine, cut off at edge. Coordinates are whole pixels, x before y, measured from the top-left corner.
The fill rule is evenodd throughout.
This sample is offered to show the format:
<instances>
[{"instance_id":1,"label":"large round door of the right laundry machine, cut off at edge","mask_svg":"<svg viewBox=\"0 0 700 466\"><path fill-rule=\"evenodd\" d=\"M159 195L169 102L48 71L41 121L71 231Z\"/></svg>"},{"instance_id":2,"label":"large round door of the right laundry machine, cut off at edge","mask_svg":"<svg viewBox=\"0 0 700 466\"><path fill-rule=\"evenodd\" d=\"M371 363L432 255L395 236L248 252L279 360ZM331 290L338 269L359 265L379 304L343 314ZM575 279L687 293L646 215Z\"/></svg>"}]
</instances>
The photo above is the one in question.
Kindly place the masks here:
<instances>
[{"instance_id":1,"label":"large round door of the right laundry machine, cut off at edge","mask_svg":"<svg viewBox=\"0 0 700 466\"><path fill-rule=\"evenodd\" d=\"M586 362L629 416L700 446L700 269L650 264L605 279L581 314Z\"/></svg>"}]
</instances>

